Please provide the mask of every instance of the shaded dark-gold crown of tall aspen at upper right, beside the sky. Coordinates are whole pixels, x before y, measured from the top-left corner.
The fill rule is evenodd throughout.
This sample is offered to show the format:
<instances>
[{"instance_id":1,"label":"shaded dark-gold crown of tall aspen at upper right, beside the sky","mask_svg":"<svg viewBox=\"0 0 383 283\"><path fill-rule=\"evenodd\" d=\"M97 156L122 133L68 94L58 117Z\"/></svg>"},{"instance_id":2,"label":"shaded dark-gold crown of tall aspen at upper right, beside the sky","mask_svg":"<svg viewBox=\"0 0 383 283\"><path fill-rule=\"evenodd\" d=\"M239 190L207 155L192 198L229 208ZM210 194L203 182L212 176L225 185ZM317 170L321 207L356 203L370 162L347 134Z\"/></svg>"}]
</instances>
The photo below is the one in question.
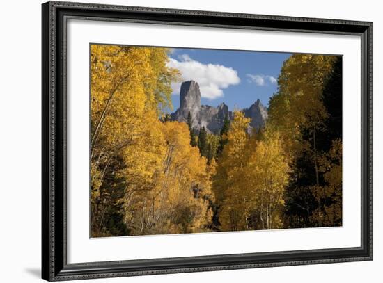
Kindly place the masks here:
<instances>
[{"instance_id":1,"label":"shaded dark-gold crown of tall aspen at upper right, beside the sky","mask_svg":"<svg viewBox=\"0 0 383 283\"><path fill-rule=\"evenodd\" d=\"M322 91L335 60L336 56L293 54L283 63L279 91L269 102L268 127L281 133L290 156L299 150L299 130L314 131L327 118Z\"/></svg>"}]
</instances>

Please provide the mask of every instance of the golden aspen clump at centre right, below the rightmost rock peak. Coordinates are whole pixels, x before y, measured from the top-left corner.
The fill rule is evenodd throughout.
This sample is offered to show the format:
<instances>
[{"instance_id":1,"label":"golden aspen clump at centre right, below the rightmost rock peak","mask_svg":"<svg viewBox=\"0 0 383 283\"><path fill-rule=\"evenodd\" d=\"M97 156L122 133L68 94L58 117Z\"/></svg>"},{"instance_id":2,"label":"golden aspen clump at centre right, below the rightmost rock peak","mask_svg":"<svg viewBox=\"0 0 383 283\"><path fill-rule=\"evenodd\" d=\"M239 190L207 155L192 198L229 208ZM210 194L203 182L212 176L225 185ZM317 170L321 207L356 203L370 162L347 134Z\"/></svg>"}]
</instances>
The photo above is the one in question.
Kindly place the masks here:
<instances>
[{"instance_id":1,"label":"golden aspen clump at centre right, below the rightmost rock peak","mask_svg":"<svg viewBox=\"0 0 383 283\"><path fill-rule=\"evenodd\" d=\"M250 136L249 122L242 112L235 112L228 143L219 158L213 190L221 207L219 220L223 231L282 227L288 161L278 134Z\"/></svg>"}]
</instances>

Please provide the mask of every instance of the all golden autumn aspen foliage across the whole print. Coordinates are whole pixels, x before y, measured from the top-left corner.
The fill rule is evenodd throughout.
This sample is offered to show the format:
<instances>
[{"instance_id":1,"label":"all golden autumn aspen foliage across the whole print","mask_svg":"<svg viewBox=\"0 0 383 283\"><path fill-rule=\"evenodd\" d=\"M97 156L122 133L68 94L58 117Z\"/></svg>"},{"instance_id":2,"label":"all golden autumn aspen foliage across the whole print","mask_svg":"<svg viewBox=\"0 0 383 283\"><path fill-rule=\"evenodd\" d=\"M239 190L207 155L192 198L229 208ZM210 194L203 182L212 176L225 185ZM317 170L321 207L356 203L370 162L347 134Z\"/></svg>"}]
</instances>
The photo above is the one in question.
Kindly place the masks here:
<instances>
[{"instance_id":1,"label":"all golden autumn aspen foliage across the whole print","mask_svg":"<svg viewBox=\"0 0 383 283\"><path fill-rule=\"evenodd\" d=\"M334 56L291 56L266 127L249 134L249 118L235 111L226 133L209 136L214 152L220 139L224 147L208 162L186 123L162 119L180 76L167 67L168 53L91 45L91 236L292 227L286 190L302 152L320 177L308 188L311 221L339 220L341 140L315 147L329 116L321 95Z\"/></svg>"}]
</instances>

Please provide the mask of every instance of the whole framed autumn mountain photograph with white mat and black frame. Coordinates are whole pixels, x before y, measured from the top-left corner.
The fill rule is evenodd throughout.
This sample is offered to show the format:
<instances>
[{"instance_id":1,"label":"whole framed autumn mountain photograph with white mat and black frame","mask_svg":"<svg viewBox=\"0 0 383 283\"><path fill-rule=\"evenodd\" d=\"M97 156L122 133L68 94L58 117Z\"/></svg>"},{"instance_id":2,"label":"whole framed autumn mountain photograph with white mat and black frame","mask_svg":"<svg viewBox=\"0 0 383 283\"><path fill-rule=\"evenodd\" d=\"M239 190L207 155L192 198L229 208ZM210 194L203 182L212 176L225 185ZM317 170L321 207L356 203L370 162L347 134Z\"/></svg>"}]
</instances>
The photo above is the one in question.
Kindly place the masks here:
<instances>
[{"instance_id":1,"label":"whole framed autumn mountain photograph with white mat and black frame","mask_svg":"<svg viewBox=\"0 0 383 283\"><path fill-rule=\"evenodd\" d=\"M42 278L373 259L373 23L42 4Z\"/></svg>"}]
</instances>

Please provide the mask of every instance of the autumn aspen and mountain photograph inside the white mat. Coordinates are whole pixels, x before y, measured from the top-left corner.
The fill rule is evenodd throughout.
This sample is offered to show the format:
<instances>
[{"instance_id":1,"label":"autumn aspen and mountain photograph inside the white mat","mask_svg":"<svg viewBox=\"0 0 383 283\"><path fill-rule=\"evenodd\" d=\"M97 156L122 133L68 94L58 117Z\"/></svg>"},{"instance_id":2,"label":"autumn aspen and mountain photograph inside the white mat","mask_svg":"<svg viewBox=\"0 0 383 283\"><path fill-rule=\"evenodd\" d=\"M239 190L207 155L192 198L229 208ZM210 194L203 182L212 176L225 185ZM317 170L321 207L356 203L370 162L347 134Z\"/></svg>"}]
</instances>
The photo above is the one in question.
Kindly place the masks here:
<instances>
[{"instance_id":1,"label":"autumn aspen and mountain photograph inside the white mat","mask_svg":"<svg viewBox=\"0 0 383 283\"><path fill-rule=\"evenodd\" d=\"M343 56L90 43L89 68L91 238L343 225Z\"/></svg>"}]
</instances>

